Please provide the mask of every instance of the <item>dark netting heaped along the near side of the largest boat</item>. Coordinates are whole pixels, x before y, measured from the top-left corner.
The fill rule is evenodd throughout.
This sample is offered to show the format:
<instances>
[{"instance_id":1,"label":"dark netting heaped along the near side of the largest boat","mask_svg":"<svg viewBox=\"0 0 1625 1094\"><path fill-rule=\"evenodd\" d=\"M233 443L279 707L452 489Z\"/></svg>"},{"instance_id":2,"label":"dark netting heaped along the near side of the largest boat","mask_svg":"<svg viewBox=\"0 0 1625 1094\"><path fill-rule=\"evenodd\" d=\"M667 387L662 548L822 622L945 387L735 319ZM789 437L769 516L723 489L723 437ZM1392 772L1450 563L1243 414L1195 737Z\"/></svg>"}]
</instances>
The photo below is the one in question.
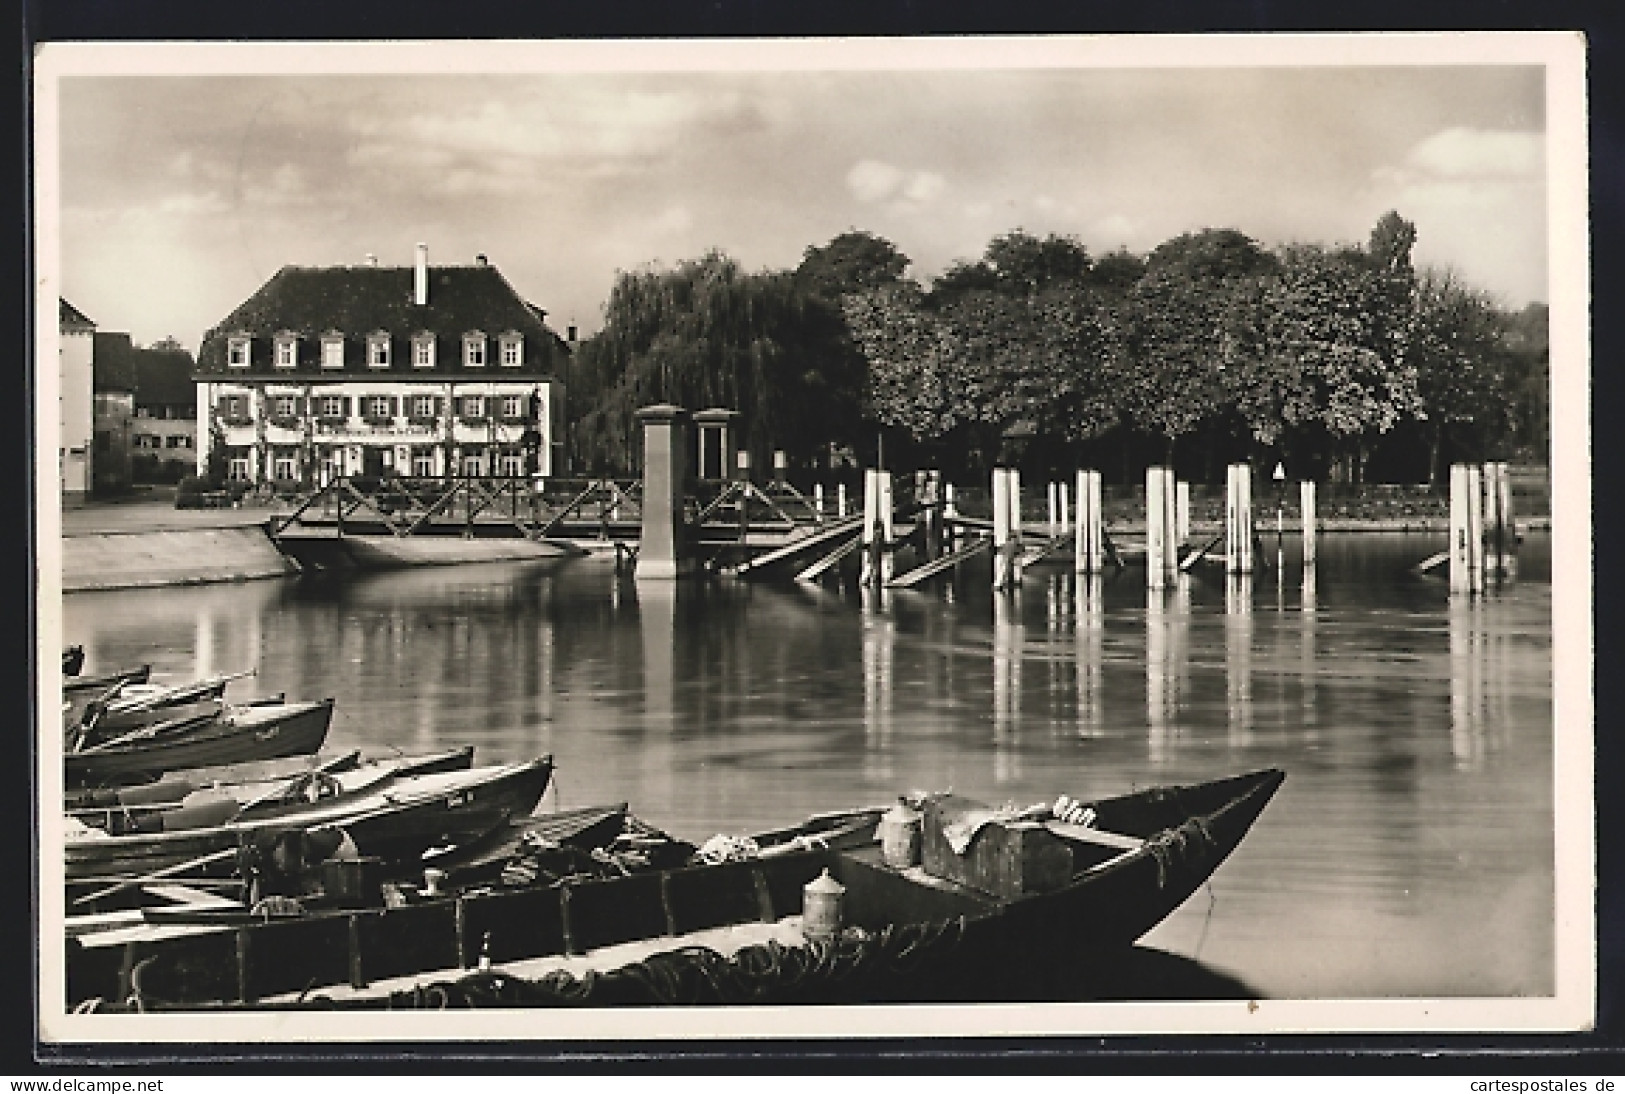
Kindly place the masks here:
<instances>
[{"instance_id":1,"label":"dark netting heaped along the near side of the largest boat","mask_svg":"<svg viewBox=\"0 0 1625 1094\"><path fill-rule=\"evenodd\" d=\"M655 954L645 961L590 970L556 970L526 980L500 970L473 972L395 992L387 1009L460 1009L500 1006L704 1006L741 1003L819 1003L881 1000L900 977L952 959L965 920L899 923L848 931L834 941L786 946L769 941L723 956L705 946ZM332 1006L312 996L307 1006ZM377 1006L377 1001L372 1001Z\"/></svg>"}]
</instances>

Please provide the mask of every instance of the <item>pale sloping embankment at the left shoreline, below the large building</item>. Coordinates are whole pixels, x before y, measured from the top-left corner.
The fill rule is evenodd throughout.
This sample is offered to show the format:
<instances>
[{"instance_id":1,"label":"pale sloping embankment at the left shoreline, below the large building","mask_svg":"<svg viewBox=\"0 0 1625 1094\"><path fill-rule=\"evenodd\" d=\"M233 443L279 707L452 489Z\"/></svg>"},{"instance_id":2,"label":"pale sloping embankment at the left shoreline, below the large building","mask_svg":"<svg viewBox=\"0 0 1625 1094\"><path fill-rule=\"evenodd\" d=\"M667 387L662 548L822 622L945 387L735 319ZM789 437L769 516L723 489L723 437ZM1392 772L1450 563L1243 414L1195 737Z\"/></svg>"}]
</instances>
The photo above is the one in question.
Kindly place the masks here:
<instances>
[{"instance_id":1,"label":"pale sloping embankment at the left shoreline, below the large building","mask_svg":"<svg viewBox=\"0 0 1625 1094\"><path fill-rule=\"evenodd\" d=\"M297 574L258 523L62 536L62 592L205 585Z\"/></svg>"}]
</instances>

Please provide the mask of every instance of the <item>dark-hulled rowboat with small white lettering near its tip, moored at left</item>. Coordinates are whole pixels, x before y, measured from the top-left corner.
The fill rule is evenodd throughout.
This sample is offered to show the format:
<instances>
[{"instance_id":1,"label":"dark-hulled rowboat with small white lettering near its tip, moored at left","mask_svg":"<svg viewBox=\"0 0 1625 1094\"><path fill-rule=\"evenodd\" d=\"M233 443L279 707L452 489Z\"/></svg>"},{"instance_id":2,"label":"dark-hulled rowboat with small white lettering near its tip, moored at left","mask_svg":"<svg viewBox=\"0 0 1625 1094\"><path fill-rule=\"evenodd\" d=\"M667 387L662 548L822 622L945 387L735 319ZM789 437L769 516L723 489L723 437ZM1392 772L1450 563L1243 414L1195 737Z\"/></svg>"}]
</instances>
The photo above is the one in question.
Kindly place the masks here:
<instances>
[{"instance_id":1,"label":"dark-hulled rowboat with small white lettering near its tip, moored at left","mask_svg":"<svg viewBox=\"0 0 1625 1094\"><path fill-rule=\"evenodd\" d=\"M333 701L231 707L132 730L62 758L68 787L150 782L164 772L322 748Z\"/></svg>"}]
</instances>

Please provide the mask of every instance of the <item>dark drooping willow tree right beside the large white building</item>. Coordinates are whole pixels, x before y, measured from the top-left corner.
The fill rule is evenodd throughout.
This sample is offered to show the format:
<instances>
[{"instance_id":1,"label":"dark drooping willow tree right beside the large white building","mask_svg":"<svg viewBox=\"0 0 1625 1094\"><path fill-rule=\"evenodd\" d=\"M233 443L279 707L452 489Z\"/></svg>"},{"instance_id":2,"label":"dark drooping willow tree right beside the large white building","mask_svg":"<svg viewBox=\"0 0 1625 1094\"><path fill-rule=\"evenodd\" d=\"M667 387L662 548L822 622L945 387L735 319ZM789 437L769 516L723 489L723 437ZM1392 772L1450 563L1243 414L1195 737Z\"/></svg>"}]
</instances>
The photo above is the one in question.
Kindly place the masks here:
<instances>
[{"instance_id":1,"label":"dark drooping willow tree right beside the large white building","mask_svg":"<svg viewBox=\"0 0 1625 1094\"><path fill-rule=\"evenodd\" d=\"M603 330L583 343L592 389L577 426L588 467L629 470L635 411L650 403L741 415L759 463L774 449L804 457L855 428L861 377L837 306L788 271L746 273L710 252L671 270L622 273Z\"/></svg>"}]
</instances>

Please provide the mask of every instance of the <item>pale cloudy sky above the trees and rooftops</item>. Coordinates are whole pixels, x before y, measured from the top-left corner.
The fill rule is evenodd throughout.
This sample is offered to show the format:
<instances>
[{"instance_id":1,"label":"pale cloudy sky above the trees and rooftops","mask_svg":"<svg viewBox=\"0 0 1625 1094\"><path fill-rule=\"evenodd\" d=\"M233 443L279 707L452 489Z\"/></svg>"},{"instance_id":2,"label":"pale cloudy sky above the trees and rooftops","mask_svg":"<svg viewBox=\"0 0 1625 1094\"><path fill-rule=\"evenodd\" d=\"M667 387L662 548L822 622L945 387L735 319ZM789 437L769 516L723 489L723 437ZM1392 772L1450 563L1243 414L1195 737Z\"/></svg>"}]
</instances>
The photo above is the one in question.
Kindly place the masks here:
<instances>
[{"instance_id":1,"label":"pale cloudy sky above the trees and rooftops","mask_svg":"<svg viewBox=\"0 0 1625 1094\"><path fill-rule=\"evenodd\" d=\"M1237 228L1547 299L1536 67L63 76L63 294L197 348L283 265L491 262L561 333L618 270L786 268L847 229L930 278L1024 228Z\"/></svg>"}]
</instances>

